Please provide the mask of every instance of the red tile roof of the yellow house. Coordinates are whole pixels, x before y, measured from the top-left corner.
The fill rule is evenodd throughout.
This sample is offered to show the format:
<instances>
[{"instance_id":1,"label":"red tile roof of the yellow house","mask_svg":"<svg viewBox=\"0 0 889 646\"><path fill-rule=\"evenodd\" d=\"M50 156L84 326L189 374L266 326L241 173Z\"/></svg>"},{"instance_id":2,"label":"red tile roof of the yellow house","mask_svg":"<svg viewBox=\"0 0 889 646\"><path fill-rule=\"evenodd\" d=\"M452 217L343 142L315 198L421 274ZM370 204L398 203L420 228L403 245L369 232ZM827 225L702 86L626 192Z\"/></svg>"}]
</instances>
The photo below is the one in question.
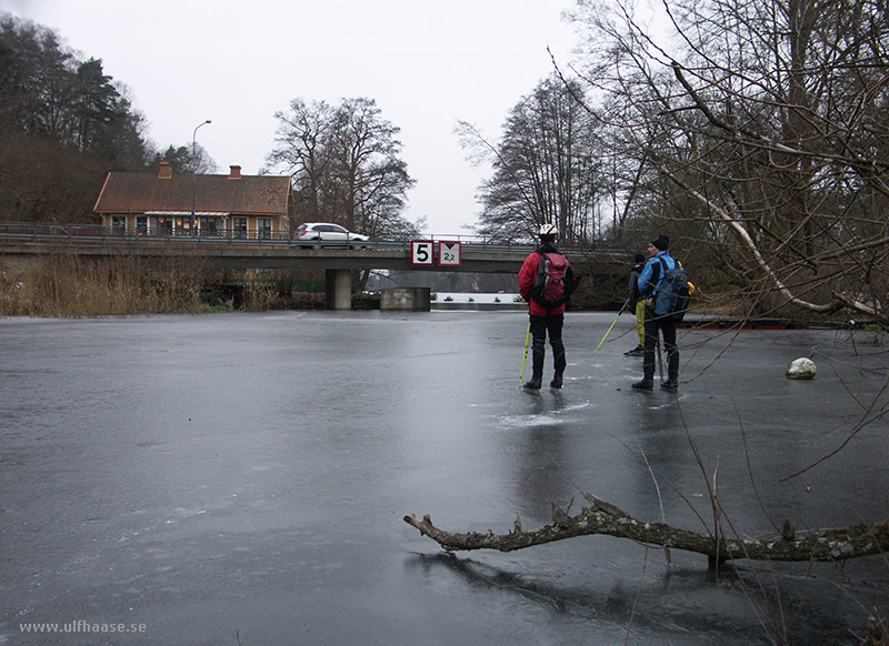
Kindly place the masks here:
<instances>
[{"instance_id":1,"label":"red tile roof of the yellow house","mask_svg":"<svg viewBox=\"0 0 889 646\"><path fill-rule=\"evenodd\" d=\"M97 213L147 211L224 212L233 215L288 215L292 202L290 178L277 175L172 175L108 173L96 201Z\"/></svg>"}]
</instances>

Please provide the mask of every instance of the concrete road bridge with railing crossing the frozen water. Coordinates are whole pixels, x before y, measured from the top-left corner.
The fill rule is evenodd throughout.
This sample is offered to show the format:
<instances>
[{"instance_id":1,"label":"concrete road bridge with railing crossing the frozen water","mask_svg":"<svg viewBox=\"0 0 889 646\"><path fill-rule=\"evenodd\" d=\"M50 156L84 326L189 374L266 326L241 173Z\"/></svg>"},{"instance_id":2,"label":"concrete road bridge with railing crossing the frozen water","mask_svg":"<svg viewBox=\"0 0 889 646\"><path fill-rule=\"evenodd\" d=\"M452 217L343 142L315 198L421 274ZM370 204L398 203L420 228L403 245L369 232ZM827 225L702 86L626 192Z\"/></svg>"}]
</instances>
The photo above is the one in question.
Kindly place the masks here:
<instances>
[{"instance_id":1,"label":"concrete road bridge with railing crossing the frozen water","mask_svg":"<svg viewBox=\"0 0 889 646\"><path fill-rule=\"evenodd\" d=\"M441 245L444 245L443 248ZM457 258L442 258L441 250ZM88 259L138 258L184 262L183 270L323 270L331 309L351 309L353 270L396 270L517 274L535 246L501 244L471 235L424 235L417 241L343 242L303 246L290 239L191 238L117 234L107 228L0 222L0 259L27 264L68 255ZM562 249L582 275L627 275L626 251Z\"/></svg>"}]
</instances>

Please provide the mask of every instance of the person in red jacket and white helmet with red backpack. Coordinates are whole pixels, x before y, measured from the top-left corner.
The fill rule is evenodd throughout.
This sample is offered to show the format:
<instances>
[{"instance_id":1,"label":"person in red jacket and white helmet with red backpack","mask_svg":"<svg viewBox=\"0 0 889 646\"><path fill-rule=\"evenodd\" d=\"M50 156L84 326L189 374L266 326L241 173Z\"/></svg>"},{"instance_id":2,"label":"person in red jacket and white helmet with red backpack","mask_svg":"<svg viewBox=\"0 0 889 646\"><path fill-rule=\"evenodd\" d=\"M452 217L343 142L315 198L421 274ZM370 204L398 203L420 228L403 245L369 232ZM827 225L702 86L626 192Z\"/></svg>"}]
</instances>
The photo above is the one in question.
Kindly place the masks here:
<instances>
[{"instance_id":1,"label":"person in red jacket and white helmet with red backpack","mask_svg":"<svg viewBox=\"0 0 889 646\"><path fill-rule=\"evenodd\" d=\"M528 301L531 331L531 380L523 387L540 390L543 381L546 340L552 347L555 374L550 387L562 387L565 373L565 304L579 281L565 254L556 248L558 230L552 224L540 228L540 246L525 259L519 271L519 294Z\"/></svg>"}]
</instances>

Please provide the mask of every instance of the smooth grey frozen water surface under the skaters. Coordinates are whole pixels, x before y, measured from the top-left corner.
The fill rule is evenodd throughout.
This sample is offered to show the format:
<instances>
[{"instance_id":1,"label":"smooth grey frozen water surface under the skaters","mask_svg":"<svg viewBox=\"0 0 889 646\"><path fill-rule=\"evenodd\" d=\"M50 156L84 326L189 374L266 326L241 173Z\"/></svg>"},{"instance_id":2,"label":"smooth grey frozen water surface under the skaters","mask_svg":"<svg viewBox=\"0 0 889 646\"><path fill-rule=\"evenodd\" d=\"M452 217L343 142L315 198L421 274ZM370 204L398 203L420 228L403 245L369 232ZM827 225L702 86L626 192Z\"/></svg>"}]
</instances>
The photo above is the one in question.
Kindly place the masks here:
<instances>
[{"instance_id":1,"label":"smooth grey frozen water surface under the skaters","mask_svg":"<svg viewBox=\"0 0 889 646\"><path fill-rule=\"evenodd\" d=\"M521 312L0 321L0 644L857 644L886 558L717 576L603 536L450 555L402 522L506 533L590 491L705 531L715 478L741 534L889 516L885 420L782 480L886 406L872 334L686 331L679 393L647 394L629 316L596 352L612 317L568 314L566 386L536 394Z\"/></svg>"}]
</instances>

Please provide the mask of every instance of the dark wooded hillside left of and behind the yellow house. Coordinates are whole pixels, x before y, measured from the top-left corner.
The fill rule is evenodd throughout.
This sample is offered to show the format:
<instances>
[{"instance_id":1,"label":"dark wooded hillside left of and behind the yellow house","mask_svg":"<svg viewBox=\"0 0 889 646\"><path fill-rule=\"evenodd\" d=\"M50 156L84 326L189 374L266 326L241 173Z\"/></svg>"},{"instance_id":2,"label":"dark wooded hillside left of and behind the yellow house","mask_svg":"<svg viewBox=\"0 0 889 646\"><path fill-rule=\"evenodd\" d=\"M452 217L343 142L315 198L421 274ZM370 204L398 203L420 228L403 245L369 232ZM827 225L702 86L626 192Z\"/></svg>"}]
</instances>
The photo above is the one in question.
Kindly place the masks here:
<instances>
[{"instance_id":1,"label":"dark wooded hillside left of and behind the yellow house","mask_svg":"<svg viewBox=\"0 0 889 646\"><path fill-rule=\"evenodd\" d=\"M0 219L93 222L108 171L194 163L186 147L154 150L144 128L101 59L82 59L52 30L0 14Z\"/></svg>"}]
</instances>

